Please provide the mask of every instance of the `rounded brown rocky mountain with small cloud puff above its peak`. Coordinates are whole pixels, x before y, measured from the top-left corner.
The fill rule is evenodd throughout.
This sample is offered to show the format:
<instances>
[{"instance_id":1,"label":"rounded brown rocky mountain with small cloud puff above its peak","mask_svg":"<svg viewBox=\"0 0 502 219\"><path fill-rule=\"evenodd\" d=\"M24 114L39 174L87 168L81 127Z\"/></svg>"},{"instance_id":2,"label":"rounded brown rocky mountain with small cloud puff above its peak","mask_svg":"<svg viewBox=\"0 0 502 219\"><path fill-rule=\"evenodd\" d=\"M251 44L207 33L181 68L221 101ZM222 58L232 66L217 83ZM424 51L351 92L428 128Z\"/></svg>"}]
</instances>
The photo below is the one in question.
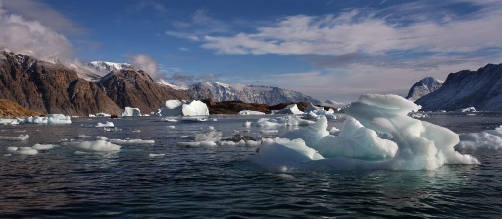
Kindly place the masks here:
<instances>
[{"instance_id":1,"label":"rounded brown rocky mountain with small cloud puff above its peak","mask_svg":"<svg viewBox=\"0 0 502 219\"><path fill-rule=\"evenodd\" d=\"M183 91L156 83L145 71L114 70L96 81L121 108L138 107L143 114L155 112L168 99L190 99Z\"/></svg>"}]
</instances>

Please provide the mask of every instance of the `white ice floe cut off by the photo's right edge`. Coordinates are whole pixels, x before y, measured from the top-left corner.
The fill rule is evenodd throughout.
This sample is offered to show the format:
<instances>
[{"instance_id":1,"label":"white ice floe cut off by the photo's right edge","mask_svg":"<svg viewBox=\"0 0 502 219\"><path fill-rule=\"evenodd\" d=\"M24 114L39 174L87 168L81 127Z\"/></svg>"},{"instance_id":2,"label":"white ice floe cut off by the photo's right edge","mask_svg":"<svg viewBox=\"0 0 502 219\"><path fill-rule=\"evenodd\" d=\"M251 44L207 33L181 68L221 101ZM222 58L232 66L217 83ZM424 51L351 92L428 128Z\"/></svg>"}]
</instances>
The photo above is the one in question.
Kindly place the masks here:
<instances>
[{"instance_id":1,"label":"white ice floe cut off by the photo's right edge","mask_svg":"<svg viewBox=\"0 0 502 219\"><path fill-rule=\"evenodd\" d=\"M502 149L502 126L494 130L460 135L460 143L456 149Z\"/></svg>"}]
</instances>

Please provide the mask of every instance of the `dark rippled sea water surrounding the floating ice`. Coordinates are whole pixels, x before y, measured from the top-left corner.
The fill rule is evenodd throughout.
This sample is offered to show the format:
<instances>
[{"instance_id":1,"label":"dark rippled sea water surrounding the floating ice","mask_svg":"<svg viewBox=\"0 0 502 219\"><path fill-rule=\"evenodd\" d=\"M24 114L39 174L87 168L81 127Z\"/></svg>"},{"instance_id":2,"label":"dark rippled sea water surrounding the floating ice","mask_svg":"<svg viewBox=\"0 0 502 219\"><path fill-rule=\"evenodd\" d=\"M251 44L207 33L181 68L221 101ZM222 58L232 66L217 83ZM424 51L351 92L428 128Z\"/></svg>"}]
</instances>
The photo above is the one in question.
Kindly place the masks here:
<instances>
[{"instance_id":1,"label":"dark rippled sea water surrounding the floating ice","mask_svg":"<svg viewBox=\"0 0 502 219\"><path fill-rule=\"evenodd\" d=\"M1 156L0 217L502 217L502 151L466 151L481 164L436 171L268 173L243 161L257 147L176 146L208 132L208 126L223 136L237 130L255 139L288 130L277 128L279 133L270 134L252 127L242 133L245 121L259 117L213 118L218 121L119 119L113 123L121 130L113 132L85 127L106 121L102 118L72 119L71 125L0 125L0 136L30 135L26 142L0 142L2 155L9 146L61 145L60 139L76 139L79 134L156 141L122 145L119 152L99 155L54 149L32 156ZM502 125L499 115L434 115L423 120L457 133ZM341 128L342 123L330 121L330 126ZM166 128L171 125L176 128ZM152 158L149 153L166 155Z\"/></svg>"}]
</instances>

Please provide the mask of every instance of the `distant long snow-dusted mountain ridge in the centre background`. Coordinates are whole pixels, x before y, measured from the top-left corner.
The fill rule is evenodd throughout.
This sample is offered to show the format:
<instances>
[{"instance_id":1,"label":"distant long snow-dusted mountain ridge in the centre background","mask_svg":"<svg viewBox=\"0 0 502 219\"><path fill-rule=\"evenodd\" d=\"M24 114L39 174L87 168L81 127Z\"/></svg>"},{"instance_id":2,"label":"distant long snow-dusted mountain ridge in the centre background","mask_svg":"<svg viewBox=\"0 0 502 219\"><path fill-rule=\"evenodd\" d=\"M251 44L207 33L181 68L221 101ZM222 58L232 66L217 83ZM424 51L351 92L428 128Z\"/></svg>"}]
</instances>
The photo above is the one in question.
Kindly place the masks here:
<instances>
[{"instance_id":1,"label":"distant long snow-dusted mountain ridge in the centre background","mask_svg":"<svg viewBox=\"0 0 502 219\"><path fill-rule=\"evenodd\" d=\"M189 86L185 91L193 99L213 99L215 101L241 100L244 102L278 104L282 102L321 101L303 93L279 87L225 84L220 82L199 82Z\"/></svg>"}]
</instances>

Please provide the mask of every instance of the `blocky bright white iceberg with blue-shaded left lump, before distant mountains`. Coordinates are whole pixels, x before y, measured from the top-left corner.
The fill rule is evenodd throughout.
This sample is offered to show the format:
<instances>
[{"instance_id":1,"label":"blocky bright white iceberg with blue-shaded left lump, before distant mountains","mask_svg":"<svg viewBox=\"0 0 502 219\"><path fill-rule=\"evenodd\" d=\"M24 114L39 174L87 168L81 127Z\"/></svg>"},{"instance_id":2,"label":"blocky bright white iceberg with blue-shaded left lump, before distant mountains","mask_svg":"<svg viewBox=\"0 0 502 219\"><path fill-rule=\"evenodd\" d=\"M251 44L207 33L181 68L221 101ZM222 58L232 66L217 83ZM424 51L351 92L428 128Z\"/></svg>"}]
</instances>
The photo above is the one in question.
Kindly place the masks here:
<instances>
[{"instance_id":1,"label":"blocky bright white iceberg with blue-shaded left lump, before distant mountains","mask_svg":"<svg viewBox=\"0 0 502 219\"><path fill-rule=\"evenodd\" d=\"M206 103L200 100L170 99L167 100L161 108L160 115L163 117L177 116L209 116L209 110Z\"/></svg>"}]
</instances>

